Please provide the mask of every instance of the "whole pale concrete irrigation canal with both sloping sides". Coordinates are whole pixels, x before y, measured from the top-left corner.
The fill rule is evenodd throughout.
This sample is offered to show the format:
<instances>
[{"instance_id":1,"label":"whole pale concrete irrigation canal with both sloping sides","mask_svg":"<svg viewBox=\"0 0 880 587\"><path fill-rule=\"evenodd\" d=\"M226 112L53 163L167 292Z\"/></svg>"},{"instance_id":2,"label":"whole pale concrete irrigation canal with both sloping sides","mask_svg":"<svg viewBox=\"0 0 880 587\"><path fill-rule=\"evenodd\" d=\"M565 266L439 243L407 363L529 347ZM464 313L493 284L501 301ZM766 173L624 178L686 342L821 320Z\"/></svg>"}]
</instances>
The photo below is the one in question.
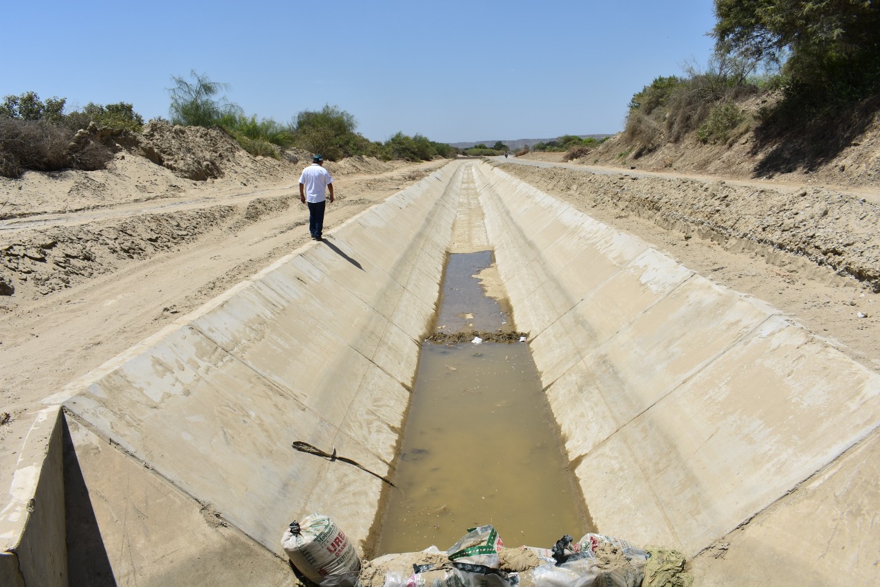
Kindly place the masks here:
<instances>
[{"instance_id":1,"label":"whole pale concrete irrigation canal with both sloping sides","mask_svg":"<svg viewBox=\"0 0 880 587\"><path fill-rule=\"evenodd\" d=\"M444 264L479 251L527 333L510 346L537 367L555 468L598 532L677 548L697 584L876 580L880 377L773 307L458 161L50 398L0 517L0 583L290 584L280 537L313 511L377 554L422 341L446 326ZM495 489L491 472L446 476ZM546 517L532 501L528 517ZM467 516L457 535L489 523ZM526 530L499 525L508 546Z\"/></svg>"}]
</instances>

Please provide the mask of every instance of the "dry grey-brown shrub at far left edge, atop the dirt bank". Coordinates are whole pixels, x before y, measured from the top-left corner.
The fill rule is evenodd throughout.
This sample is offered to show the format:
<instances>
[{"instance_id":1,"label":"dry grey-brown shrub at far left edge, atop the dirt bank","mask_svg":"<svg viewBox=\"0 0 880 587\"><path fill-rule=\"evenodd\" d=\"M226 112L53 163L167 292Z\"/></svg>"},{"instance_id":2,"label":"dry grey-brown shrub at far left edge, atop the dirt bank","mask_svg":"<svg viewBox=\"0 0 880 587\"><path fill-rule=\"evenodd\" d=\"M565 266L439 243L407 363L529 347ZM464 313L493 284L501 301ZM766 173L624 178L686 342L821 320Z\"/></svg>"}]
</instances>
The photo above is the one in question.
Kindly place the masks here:
<instances>
[{"instance_id":1,"label":"dry grey-brown shrub at far left edge, atop the dirt bank","mask_svg":"<svg viewBox=\"0 0 880 587\"><path fill-rule=\"evenodd\" d=\"M74 142L69 128L47 121L0 118L0 175L18 177L30 169L103 169L113 158L111 151L92 140Z\"/></svg>"}]
</instances>

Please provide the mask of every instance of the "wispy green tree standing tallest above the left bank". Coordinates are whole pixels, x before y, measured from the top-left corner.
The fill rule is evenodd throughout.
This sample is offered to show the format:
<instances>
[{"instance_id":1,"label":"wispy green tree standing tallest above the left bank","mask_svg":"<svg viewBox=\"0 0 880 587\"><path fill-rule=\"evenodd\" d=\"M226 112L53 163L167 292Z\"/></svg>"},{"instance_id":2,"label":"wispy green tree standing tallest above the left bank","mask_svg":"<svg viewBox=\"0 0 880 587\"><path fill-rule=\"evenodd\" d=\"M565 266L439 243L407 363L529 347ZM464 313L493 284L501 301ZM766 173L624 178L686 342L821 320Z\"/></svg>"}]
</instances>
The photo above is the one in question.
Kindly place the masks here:
<instances>
[{"instance_id":1,"label":"wispy green tree standing tallest above the left bank","mask_svg":"<svg viewBox=\"0 0 880 587\"><path fill-rule=\"evenodd\" d=\"M169 114L174 124L192 127L211 127L226 115L241 114L241 106L233 104L225 97L215 98L229 89L229 84L212 82L206 74L189 72L193 82L183 77L174 77L175 87L168 90L171 94Z\"/></svg>"}]
</instances>

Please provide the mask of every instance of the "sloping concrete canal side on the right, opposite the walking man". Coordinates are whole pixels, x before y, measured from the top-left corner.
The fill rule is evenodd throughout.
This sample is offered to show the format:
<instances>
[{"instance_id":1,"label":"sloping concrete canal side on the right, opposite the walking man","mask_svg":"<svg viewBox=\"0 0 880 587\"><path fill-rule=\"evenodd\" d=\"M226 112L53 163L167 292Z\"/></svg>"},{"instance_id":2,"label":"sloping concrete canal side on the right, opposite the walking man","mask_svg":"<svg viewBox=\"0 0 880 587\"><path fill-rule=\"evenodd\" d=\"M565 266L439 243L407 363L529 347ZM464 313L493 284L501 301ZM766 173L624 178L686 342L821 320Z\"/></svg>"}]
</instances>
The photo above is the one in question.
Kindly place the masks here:
<instances>
[{"instance_id":1,"label":"sloping concrete canal side on the right, opposite the walking man","mask_svg":"<svg viewBox=\"0 0 880 587\"><path fill-rule=\"evenodd\" d=\"M869 438L874 447L875 373L639 238L490 165L475 176L514 319L530 333L600 532L693 556L759 512L785 510L783 496L819 470L836 470L832 463L855 444ZM876 475L843 469L872 487L847 492L844 502L859 512L845 541L864 555L876 551ZM826 507L833 488L844 487L836 474L823 481ZM775 517L788 524L774 533L790 541L774 544L782 569L833 572L833 561L798 543L798 525L813 512ZM755 534L744 552L767 538ZM868 563L862 573L880 576ZM702 573L708 583L722 576Z\"/></svg>"}]
</instances>

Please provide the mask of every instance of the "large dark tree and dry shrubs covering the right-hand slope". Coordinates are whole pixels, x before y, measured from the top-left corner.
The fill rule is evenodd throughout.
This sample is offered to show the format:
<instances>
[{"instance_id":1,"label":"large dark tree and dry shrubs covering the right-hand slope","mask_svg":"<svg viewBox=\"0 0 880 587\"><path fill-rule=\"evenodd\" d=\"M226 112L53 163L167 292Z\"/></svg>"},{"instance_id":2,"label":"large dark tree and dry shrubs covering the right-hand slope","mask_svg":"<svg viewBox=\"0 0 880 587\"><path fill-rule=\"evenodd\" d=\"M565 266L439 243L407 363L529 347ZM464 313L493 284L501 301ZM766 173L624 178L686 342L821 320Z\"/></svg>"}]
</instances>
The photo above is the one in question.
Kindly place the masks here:
<instances>
[{"instance_id":1,"label":"large dark tree and dry shrubs covering the right-hand slope","mask_svg":"<svg viewBox=\"0 0 880 587\"><path fill-rule=\"evenodd\" d=\"M813 170L876 120L880 3L715 0L715 15L705 68L688 64L683 75L656 77L634 94L614 143L618 159L692 137L731 148L749 135L743 144L760 158L756 174ZM666 166L677 157L665 157Z\"/></svg>"}]
</instances>

